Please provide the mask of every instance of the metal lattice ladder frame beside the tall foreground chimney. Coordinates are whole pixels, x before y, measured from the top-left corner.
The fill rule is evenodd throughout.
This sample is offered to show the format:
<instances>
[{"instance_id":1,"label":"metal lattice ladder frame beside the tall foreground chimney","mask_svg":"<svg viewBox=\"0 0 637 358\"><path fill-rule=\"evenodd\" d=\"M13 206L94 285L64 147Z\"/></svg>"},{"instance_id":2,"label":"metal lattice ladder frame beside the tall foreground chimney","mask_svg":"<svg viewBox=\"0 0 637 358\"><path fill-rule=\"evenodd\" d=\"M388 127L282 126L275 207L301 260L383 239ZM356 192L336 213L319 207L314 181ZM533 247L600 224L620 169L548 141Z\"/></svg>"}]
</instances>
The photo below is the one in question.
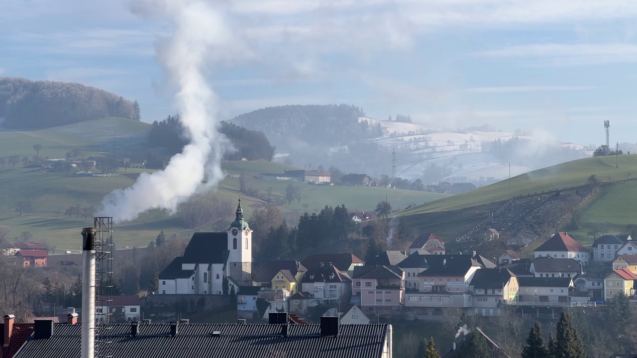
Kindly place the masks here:
<instances>
[{"instance_id":1,"label":"metal lattice ladder frame beside the tall foreground chimney","mask_svg":"<svg viewBox=\"0 0 637 358\"><path fill-rule=\"evenodd\" d=\"M95 227L95 358L112 358L113 218L94 218ZM100 311L101 310L101 311Z\"/></svg>"}]
</instances>

